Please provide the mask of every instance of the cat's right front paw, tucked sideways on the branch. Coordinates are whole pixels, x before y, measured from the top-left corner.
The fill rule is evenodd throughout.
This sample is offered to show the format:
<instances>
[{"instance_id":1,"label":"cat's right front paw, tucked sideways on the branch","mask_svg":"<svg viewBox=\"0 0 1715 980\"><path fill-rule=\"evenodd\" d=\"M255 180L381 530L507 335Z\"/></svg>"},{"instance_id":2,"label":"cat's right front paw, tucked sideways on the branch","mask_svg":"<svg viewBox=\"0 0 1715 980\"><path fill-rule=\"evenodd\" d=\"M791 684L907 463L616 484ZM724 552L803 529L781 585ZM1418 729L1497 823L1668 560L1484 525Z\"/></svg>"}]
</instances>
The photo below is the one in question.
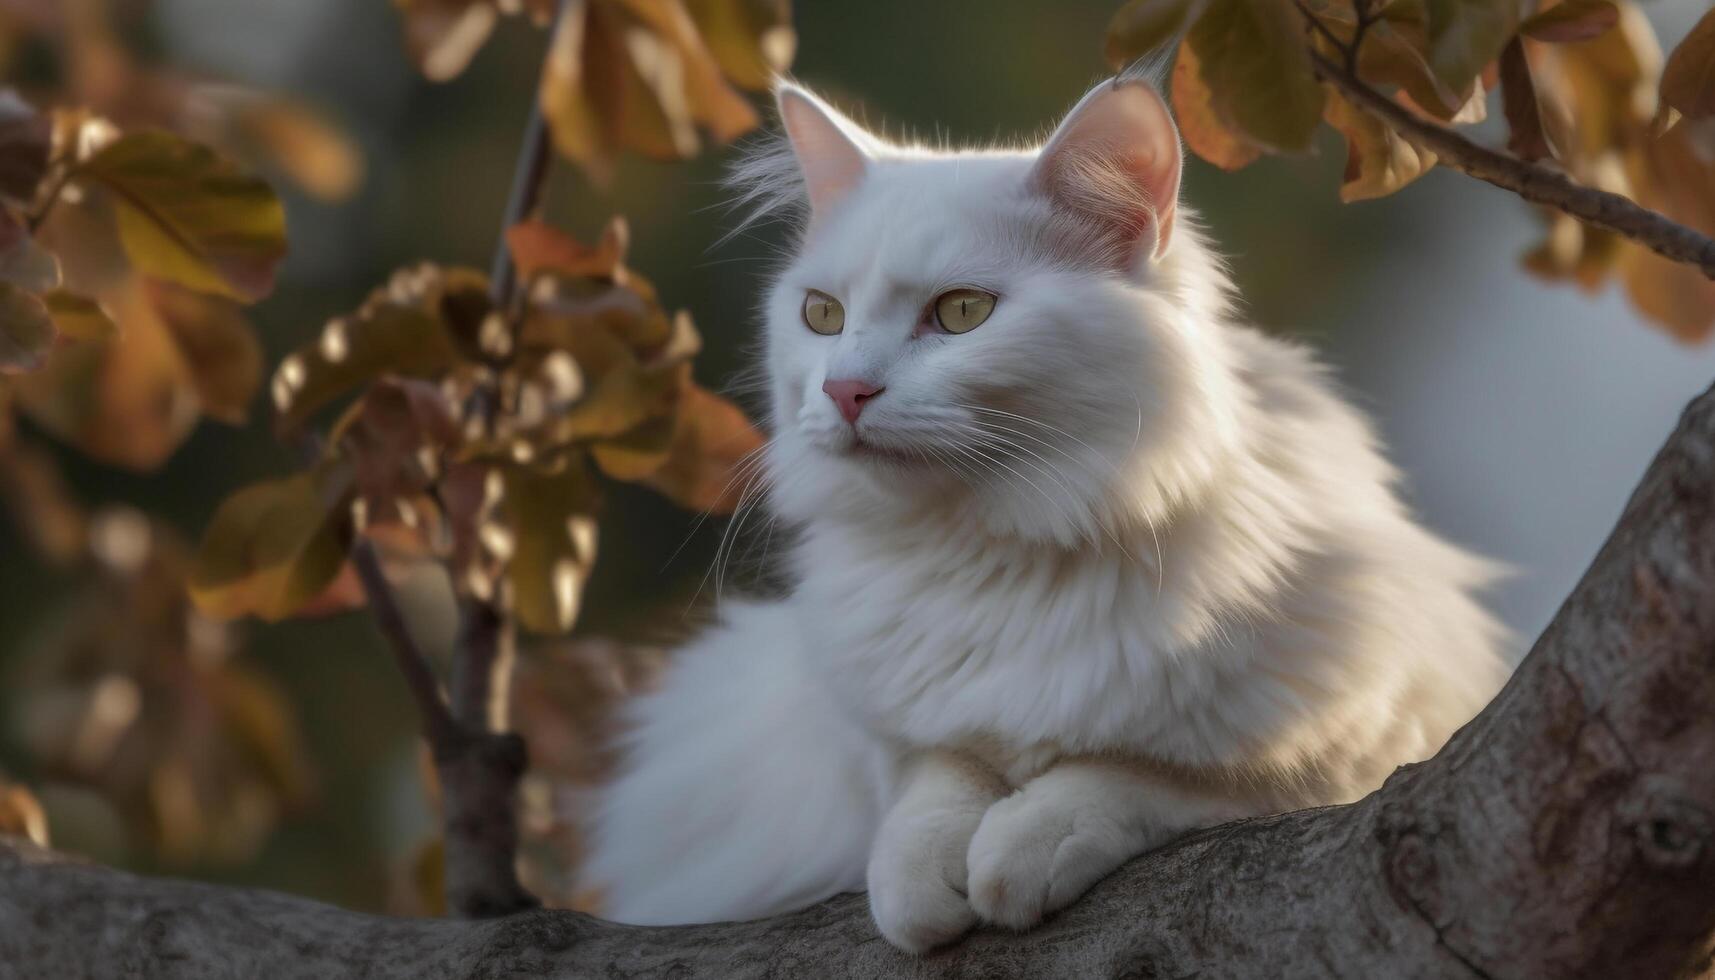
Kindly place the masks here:
<instances>
[{"instance_id":1,"label":"cat's right front paw, tucked sideways on the branch","mask_svg":"<svg viewBox=\"0 0 1715 980\"><path fill-rule=\"evenodd\" d=\"M1029 786L983 815L966 860L971 908L983 922L1029 929L1132 856L1116 822Z\"/></svg>"}]
</instances>

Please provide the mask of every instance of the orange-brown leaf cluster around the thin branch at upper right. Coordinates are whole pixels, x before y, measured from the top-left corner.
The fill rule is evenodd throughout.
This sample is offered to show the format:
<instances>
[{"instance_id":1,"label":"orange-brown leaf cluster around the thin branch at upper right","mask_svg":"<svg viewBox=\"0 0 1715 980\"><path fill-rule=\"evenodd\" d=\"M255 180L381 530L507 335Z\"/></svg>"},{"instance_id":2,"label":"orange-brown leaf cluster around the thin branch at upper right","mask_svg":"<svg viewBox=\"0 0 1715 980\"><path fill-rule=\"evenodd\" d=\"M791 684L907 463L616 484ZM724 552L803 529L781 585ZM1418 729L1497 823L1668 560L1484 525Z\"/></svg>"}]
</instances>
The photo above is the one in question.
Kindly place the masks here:
<instances>
[{"instance_id":1,"label":"orange-brown leaf cluster around the thin branch at upper right","mask_svg":"<svg viewBox=\"0 0 1715 980\"><path fill-rule=\"evenodd\" d=\"M1435 165L1393 127L1317 79L1312 53L1411 112L1483 120L1499 86L1514 156L1628 196L1715 235L1715 12L1665 72L1631 0L1130 0L1108 26L1115 67L1176 45L1171 101L1190 149L1225 170L1302 153L1327 122L1346 139L1343 201L1399 191ZM1180 39L1183 34L1183 39ZM1682 342L1715 333L1715 281L1612 232L1544 209L1525 254L1542 278L1631 302Z\"/></svg>"}]
</instances>

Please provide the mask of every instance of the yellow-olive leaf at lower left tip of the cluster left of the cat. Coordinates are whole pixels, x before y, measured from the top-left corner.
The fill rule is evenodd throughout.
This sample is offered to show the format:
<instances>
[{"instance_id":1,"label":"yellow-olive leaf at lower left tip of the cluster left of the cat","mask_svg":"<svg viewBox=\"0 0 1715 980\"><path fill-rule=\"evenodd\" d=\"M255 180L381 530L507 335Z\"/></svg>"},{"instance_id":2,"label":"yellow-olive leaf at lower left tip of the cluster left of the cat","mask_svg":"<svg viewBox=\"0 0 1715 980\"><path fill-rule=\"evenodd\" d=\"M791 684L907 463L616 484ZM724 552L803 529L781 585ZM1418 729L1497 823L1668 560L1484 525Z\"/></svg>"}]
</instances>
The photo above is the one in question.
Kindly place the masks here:
<instances>
[{"instance_id":1,"label":"yellow-olive leaf at lower left tip of the cluster left of the cat","mask_svg":"<svg viewBox=\"0 0 1715 980\"><path fill-rule=\"evenodd\" d=\"M226 498L202 535L190 599L221 620L292 616L345 565L350 499L350 472L329 463Z\"/></svg>"}]
</instances>

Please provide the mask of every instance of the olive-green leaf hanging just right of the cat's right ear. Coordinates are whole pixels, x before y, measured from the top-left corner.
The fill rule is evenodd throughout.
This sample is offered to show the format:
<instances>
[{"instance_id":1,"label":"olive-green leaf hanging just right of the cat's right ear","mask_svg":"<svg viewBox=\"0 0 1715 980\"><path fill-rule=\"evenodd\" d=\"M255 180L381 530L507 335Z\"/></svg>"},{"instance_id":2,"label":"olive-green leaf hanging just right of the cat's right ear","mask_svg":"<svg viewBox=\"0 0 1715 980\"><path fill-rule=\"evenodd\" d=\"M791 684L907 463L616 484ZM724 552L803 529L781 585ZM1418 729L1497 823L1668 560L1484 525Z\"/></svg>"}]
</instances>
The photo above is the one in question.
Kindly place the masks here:
<instances>
[{"instance_id":1,"label":"olive-green leaf hanging just right of the cat's right ear","mask_svg":"<svg viewBox=\"0 0 1715 980\"><path fill-rule=\"evenodd\" d=\"M1214 0L1187 36L1216 117L1278 153L1310 149L1322 86L1303 21L1283 0Z\"/></svg>"}]
</instances>

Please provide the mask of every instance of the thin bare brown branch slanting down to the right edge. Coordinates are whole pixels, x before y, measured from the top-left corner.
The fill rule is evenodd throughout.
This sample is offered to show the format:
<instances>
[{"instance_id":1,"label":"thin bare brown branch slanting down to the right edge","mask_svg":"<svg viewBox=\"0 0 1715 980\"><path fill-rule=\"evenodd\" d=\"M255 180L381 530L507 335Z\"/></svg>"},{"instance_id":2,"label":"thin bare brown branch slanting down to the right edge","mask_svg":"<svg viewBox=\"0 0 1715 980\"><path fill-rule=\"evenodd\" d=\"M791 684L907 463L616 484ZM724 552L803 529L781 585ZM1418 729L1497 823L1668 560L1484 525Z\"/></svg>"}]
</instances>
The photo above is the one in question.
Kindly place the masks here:
<instances>
[{"instance_id":1,"label":"thin bare brown branch slanting down to the right edge","mask_svg":"<svg viewBox=\"0 0 1715 980\"><path fill-rule=\"evenodd\" d=\"M1696 266L1715 280L1715 239L1650 211L1629 197L1585 187L1545 166L1478 146L1381 94L1321 51L1312 50L1310 60L1322 81L1405 139L1434 151L1442 165L1511 191L1533 204L1556 208L1580 221L1624 235L1662 257Z\"/></svg>"}]
</instances>

